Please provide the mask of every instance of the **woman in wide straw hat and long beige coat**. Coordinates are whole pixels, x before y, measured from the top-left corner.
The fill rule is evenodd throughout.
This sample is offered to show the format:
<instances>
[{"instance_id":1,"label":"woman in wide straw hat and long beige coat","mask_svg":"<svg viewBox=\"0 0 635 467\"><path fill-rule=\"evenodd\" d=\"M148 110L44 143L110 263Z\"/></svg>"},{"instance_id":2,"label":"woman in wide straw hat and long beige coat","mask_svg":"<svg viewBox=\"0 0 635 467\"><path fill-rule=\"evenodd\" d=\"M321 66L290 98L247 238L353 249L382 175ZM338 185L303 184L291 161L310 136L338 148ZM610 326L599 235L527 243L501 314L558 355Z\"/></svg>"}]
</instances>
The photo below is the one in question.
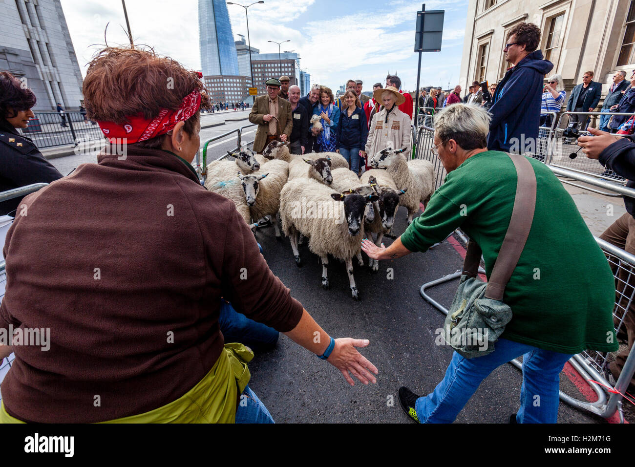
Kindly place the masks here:
<instances>
[{"instance_id":1,"label":"woman in wide straw hat and long beige coat","mask_svg":"<svg viewBox=\"0 0 635 467\"><path fill-rule=\"evenodd\" d=\"M378 151L385 149L387 142L392 141L395 149L410 148L410 117L399 110L405 98L393 86L378 89L373 93L377 102L384 108L373 116L368 128L366 153L371 158Z\"/></svg>"}]
</instances>

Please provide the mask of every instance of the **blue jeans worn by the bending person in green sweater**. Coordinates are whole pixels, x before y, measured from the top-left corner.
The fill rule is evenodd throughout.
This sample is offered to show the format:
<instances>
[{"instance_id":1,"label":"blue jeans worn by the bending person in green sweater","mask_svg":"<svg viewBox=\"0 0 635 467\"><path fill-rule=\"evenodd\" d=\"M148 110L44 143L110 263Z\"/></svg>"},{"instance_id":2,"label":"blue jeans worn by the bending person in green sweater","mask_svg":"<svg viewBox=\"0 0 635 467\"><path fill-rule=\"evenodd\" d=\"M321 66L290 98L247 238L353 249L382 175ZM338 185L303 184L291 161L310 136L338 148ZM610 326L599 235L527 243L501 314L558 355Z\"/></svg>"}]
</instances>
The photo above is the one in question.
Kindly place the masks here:
<instances>
[{"instance_id":1,"label":"blue jeans worn by the bending person in green sweater","mask_svg":"<svg viewBox=\"0 0 635 467\"><path fill-rule=\"evenodd\" d=\"M523 386L518 423L558 421L560 372L571 355L498 339L495 350L477 358L452 356L443 381L415 403L421 423L452 423L481 381L494 369L523 355Z\"/></svg>"}]
</instances>

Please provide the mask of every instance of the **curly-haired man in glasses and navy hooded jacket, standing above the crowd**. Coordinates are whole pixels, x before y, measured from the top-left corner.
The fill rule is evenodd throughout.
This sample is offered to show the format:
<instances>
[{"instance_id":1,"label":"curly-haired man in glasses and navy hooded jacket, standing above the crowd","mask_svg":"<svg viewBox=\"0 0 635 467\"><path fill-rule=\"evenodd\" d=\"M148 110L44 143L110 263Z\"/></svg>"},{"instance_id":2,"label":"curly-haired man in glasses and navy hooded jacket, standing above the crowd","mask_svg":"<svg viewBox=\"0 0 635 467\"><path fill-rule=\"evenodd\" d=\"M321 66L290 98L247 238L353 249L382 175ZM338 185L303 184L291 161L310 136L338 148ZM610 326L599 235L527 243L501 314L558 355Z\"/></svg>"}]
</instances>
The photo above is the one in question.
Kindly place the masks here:
<instances>
[{"instance_id":1,"label":"curly-haired man in glasses and navy hooded jacket, standing above the crowd","mask_svg":"<svg viewBox=\"0 0 635 467\"><path fill-rule=\"evenodd\" d=\"M554 65L536 50L540 29L521 23L507 35L504 52L511 67L498 83L490 107L487 147L492 151L535 152L544 75Z\"/></svg>"}]
</instances>

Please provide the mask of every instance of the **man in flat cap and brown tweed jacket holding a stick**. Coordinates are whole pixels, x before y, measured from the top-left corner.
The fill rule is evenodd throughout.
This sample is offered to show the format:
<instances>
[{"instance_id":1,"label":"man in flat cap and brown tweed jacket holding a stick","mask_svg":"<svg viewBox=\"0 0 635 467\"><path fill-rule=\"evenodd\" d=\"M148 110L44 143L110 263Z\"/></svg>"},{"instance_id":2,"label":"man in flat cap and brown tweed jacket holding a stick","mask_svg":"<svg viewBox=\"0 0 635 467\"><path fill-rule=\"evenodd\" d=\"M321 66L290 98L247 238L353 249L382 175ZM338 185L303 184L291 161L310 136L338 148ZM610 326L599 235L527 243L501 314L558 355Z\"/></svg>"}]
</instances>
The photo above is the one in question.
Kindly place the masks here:
<instances>
[{"instance_id":1,"label":"man in flat cap and brown tweed jacket holding a stick","mask_svg":"<svg viewBox=\"0 0 635 467\"><path fill-rule=\"evenodd\" d=\"M249 121L258 124L253 142L253 150L258 154L262 154L267 144L274 140L288 141L293 129L291 104L278 96L280 81L276 78L267 79L265 85L267 94L255 98L249 114Z\"/></svg>"}]
</instances>

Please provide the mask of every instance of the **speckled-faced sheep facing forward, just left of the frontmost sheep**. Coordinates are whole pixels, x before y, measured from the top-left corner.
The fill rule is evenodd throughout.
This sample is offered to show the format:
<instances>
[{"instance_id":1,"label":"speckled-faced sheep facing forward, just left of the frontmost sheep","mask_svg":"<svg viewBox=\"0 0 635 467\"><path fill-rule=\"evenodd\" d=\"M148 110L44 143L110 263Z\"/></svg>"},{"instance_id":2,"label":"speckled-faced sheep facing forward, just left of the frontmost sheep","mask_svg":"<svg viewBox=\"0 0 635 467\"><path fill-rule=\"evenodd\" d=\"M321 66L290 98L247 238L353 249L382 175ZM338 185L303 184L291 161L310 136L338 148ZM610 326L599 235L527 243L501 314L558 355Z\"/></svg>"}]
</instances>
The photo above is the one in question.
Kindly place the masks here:
<instances>
[{"instance_id":1,"label":"speckled-faced sheep facing forward, just left of the frontmost sheep","mask_svg":"<svg viewBox=\"0 0 635 467\"><path fill-rule=\"evenodd\" d=\"M244 191L247 205L250 206L251 219L258 220L270 215L280 239L277 214L280 209L280 191L287 181L289 165L284 161L268 161L262 167L262 175L238 175Z\"/></svg>"}]
</instances>

